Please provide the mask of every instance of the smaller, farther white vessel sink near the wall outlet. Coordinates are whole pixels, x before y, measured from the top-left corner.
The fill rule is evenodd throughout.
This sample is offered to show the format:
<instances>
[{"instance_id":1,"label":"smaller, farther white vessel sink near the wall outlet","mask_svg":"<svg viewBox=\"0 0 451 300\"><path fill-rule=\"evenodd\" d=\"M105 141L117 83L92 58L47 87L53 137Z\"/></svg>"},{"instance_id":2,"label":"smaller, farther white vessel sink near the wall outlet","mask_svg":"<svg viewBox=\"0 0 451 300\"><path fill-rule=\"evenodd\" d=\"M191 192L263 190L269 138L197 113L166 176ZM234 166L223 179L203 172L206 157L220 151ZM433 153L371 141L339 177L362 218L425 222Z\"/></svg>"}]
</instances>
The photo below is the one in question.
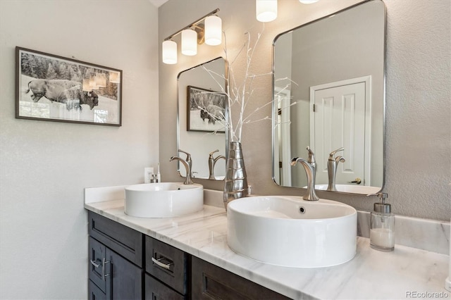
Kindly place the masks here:
<instances>
[{"instance_id":1,"label":"smaller, farther white vessel sink near the wall outlet","mask_svg":"<svg viewBox=\"0 0 451 300\"><path fill-rule=\"evenodd\" d=\"M204 187L181 182L144 183L125 187L124 211L140 218L170 218L202 211Z\"/></svg>"}]
</instances>

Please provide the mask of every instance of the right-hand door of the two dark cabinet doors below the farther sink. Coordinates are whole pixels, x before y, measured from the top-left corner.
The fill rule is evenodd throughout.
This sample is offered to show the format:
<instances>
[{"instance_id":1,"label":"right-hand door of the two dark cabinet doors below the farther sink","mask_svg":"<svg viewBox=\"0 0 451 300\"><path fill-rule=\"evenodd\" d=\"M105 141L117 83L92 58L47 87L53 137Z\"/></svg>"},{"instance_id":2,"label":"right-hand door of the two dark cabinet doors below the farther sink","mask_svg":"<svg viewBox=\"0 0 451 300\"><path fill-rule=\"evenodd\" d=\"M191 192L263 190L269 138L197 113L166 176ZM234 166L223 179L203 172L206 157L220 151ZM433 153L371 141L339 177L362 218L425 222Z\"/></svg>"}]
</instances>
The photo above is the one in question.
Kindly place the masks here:
<instances>
[{"instance_id":1,"label":"right-hand door of the two dark cabinet doors below the farther sink","mask_svg":"<svg viewBox=\"0 0 451 300\"><path fill-rule=\"evenodd\" d=\"M109 299L142 299L142 269L130 263L116 252L106 249L109 263L106 275Z\"/></svg>"}]
</instances>

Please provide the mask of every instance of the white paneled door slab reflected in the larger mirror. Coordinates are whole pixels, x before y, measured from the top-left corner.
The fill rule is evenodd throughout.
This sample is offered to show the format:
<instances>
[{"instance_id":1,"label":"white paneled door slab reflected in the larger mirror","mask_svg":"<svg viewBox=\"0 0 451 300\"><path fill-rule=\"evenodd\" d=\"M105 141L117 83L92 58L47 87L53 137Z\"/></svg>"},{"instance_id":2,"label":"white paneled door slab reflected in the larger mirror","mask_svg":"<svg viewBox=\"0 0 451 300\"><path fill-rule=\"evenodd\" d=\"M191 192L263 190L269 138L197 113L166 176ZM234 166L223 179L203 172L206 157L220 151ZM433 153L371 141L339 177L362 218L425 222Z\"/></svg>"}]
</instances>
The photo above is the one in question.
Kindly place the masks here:
<instances>
[{"instance_id":1,"label":"white paneled door slab reflected in the larger mirror","mask_svg":"<svg viewBox=\"0 0 451 300\"><path fill-rule=\"evenodd\" d=\"M328 156L341 147L345 150L336 155L346 161L338 164L336 183L348 184L356 177L364 182L365 89L365 82L359 82L314 92L316 182L328 182Z\"/></svg>"}]
</instances>

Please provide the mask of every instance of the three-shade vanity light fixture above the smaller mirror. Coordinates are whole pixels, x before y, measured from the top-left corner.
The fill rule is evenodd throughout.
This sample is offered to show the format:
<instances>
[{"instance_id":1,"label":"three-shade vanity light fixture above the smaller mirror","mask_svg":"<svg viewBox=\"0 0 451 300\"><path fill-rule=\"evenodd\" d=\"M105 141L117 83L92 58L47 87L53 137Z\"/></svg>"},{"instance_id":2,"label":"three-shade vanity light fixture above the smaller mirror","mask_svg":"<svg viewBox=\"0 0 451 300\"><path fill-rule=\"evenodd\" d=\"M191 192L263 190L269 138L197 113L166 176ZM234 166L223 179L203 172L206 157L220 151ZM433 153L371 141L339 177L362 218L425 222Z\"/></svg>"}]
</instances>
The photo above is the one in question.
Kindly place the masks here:
<instances>
[{"instance_id":1,"label":"three-shade vanity light fixture above the smaller mirror","mask_svg":"<svg viewBox=\"0 0 451 300\"><path fill-rule=\"evenodd\" d=\"M177 63L177 43L173 38L181 33L181 52L187 56L194 56L197 54L197 44L205 44L216 46L222 42L222 20L216 13L219 8L216 8L211 13L207 13L199 20L187 25L173 35L166 37L162 44L162 59L163 63L173 65Z\"/></svg>"}]
</instances>

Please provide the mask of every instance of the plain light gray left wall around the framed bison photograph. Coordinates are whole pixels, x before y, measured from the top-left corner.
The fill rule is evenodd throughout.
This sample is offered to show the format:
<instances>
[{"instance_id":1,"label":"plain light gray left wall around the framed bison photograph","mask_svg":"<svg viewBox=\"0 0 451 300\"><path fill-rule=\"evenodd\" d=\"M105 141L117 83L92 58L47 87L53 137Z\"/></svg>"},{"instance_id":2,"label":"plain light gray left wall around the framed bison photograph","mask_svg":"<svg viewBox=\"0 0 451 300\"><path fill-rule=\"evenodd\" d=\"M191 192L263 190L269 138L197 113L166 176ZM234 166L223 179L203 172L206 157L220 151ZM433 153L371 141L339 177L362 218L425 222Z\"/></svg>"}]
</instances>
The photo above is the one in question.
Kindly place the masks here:
<instances>
[{"instance_id":1,"label":"plain light gray left wall around the framed bison photograph","mask_svg":"<svg viewBox=\"0 0 451 300\"><path fill-rule=\"evenodd\" d=\"M87 298L83 189L158 163L157 15L148 1L0 1L0 299ZM123 126L16 119L15 46L123 70Z\"/></svg>"}]
</instances>

